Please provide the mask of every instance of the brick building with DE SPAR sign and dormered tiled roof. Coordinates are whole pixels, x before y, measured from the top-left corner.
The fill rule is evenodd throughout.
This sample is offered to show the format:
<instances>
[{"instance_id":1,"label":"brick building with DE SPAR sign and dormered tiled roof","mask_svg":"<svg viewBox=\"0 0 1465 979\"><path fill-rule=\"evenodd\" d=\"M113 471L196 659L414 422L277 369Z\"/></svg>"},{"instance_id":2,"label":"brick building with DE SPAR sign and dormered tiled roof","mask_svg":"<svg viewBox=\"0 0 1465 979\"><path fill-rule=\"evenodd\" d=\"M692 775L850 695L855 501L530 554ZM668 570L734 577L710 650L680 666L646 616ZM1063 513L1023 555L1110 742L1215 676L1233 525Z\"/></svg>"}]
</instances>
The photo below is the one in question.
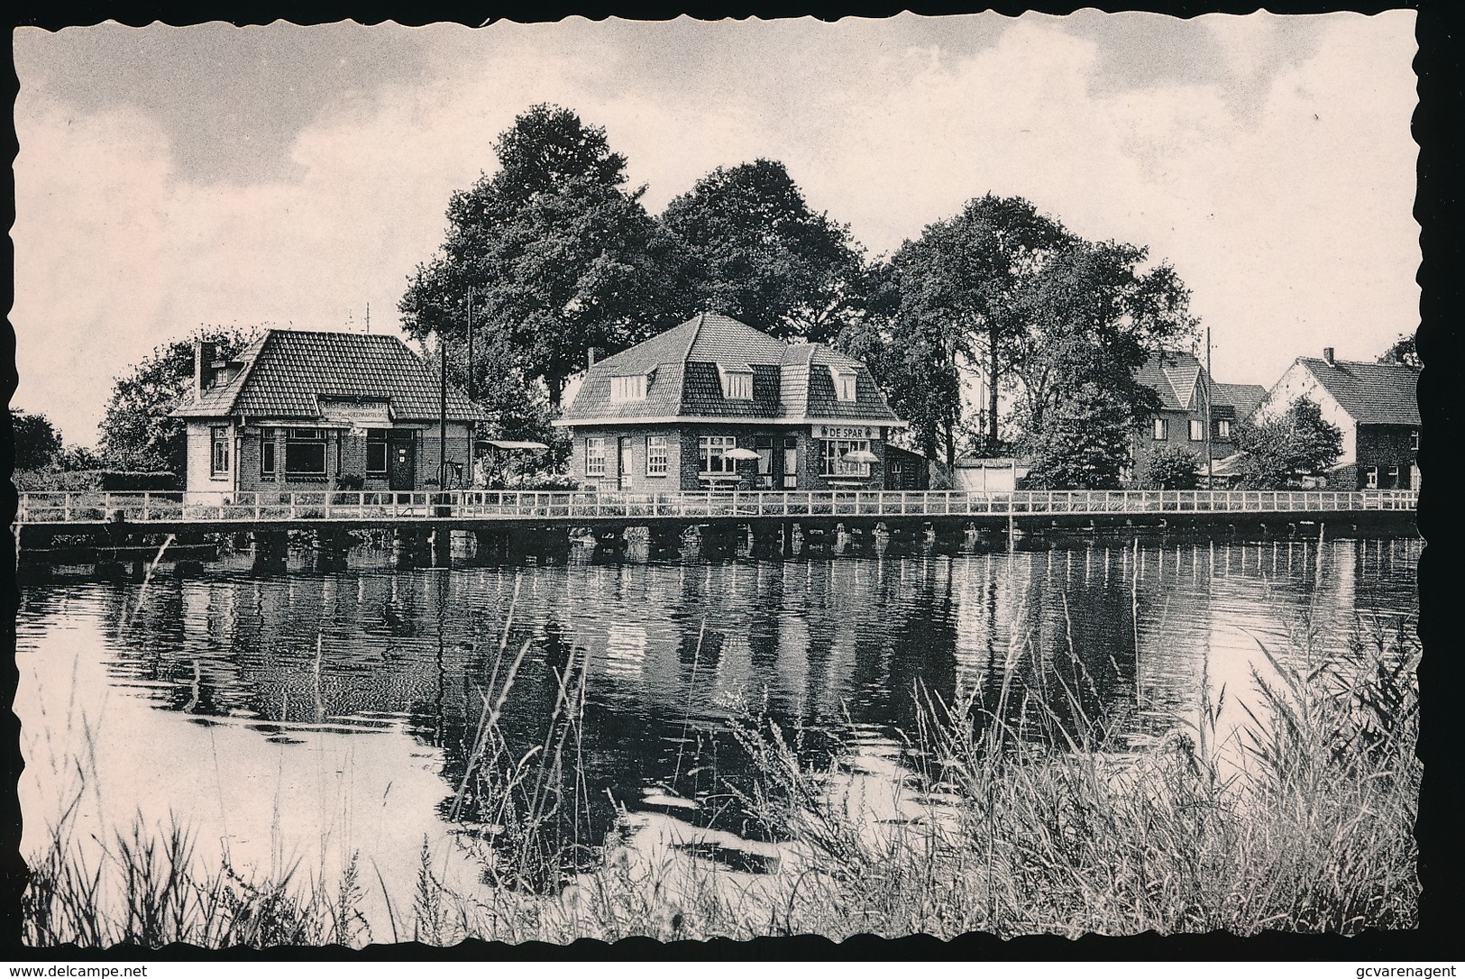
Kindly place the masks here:
<instances>
[{"instance_id":1,"label":"brick building with DE SPAR sign and dormered tiled roof","mask_svg":"<svg viewBox=\"0 0 1465 979\"><path fill-rule=\"evenodd\" d=\"M555 424L574 429L571 475L604 490L867 490L902 476L886 437L905 422L863 363L719 314L593 363Z\"/></svg>"}]
</instances>

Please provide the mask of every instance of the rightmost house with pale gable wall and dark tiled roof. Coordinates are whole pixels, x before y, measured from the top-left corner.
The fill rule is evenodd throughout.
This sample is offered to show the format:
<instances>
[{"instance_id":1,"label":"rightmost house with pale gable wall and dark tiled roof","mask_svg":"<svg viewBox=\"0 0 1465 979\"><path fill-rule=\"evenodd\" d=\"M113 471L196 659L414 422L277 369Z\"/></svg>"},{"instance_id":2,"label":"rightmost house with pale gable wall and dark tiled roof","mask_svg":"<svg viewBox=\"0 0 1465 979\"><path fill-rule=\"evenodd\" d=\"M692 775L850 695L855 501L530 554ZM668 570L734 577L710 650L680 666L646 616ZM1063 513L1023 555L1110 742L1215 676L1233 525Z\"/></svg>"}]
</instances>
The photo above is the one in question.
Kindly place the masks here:
<instances>
[{"instance_id":1,"label":"rightmost house with pale gable wall and dark tiled roof","mask_svg":"<svg viewBox=\"0 0 1465 979\"><path fill-rule=\"evenodd\" d=\"M1343 453L1327 484L1342 490L1420 488L1420 368L1403 363L1298 358L1257 407L1277 418L1298 397L1316 402L1323 418L1343 429Z\"/></svg>"}]
</instances>

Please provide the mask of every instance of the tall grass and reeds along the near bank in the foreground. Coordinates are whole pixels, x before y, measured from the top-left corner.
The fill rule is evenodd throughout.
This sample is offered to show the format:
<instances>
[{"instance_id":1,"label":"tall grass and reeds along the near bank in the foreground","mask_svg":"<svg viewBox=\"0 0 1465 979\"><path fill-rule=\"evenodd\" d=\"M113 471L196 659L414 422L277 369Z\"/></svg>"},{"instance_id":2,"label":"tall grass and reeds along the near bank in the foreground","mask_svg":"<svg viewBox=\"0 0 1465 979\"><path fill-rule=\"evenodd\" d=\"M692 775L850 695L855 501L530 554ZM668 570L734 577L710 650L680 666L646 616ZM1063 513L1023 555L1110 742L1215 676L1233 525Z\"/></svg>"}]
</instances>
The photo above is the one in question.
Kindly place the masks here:
<instances>
[{"instance_id":1,"label":"tall grass and reeds along the near bank in the foreground","mask_svg":"<svg viewBox=\"0 0 1465 979\"><path fill-rule=\"evenodd\" d=\"M895 815L866 802L848 753L810 765L798 731L735 725L754 777L734 794L781 854L766 875L617 834L583 847L585 664L557 671L544 739L516 753L497 724L524 657L507 636L505 624L453 802L488 827L478 849L494 887L453 891L425 850L412 906L388 903L387 920L368 922L363 888L387 888L355 860L331 884L297 866L255 879L227 860L201 873L188 831L133 824L88 863L63 818L31 860L26 942L1351 935L1417 920L1418 649L1402 626L1361 632L1330 661L1304 623L1292 655L1261 649L1267 668L1253 673L1235 731L1217 728L1220 701L1206 701L1190 730L1140 752L1112 750L1105 720L1084 715L1075 687L1087 677L1020 684L1031 651L1018 651L986 701L921 695ZM627 815L617 832L633 824Z\"/></svg>"}]
</instances>

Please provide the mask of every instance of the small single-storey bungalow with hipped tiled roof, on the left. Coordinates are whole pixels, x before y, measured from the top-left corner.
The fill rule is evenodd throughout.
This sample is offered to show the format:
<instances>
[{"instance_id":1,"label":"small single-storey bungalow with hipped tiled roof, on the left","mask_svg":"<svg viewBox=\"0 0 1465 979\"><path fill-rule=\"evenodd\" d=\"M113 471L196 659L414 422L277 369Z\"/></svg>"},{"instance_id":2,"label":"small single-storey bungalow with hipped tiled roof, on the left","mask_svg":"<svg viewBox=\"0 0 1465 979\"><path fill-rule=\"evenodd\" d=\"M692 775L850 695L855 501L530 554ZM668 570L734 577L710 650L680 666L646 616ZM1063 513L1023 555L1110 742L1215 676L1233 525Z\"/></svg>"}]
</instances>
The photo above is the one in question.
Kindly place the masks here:
<instances>
[{"instance_id":1,"label":"small single-storey bungalow with hipped tiled roof, on the left","mask_svg":"<svg viewBox=\"0 0 1465 979\"><path fill-rule=\"evenodd\" d=\"M189 491L438 487L441 380L396 337L267 330L237 358L198 343ZM473 472L485 413L447 388L447 487ZM359 481L359 482L357 482Z\"/></svg>"}]
</instances>

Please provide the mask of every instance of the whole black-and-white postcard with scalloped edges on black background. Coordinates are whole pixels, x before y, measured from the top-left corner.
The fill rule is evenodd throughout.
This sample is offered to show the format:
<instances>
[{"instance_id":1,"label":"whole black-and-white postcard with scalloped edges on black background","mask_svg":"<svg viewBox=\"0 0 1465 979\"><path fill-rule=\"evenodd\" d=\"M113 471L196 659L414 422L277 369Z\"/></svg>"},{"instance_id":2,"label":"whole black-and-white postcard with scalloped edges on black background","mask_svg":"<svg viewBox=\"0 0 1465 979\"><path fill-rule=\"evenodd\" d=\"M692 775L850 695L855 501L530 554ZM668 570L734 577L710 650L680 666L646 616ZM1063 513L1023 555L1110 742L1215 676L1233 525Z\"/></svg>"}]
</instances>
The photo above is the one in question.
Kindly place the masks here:
<instances>
[{"instance_id":1,"label":"whole black-and-white postcard with scalloped edges on black background","mask_svg":"<svg viewBox=\"0 0 1465 979\"><path fill-rule=\"evenodd\" d=\"M13 48L28 945L1417 926L1412 10Z\"/></svg>"}]
</instances>

